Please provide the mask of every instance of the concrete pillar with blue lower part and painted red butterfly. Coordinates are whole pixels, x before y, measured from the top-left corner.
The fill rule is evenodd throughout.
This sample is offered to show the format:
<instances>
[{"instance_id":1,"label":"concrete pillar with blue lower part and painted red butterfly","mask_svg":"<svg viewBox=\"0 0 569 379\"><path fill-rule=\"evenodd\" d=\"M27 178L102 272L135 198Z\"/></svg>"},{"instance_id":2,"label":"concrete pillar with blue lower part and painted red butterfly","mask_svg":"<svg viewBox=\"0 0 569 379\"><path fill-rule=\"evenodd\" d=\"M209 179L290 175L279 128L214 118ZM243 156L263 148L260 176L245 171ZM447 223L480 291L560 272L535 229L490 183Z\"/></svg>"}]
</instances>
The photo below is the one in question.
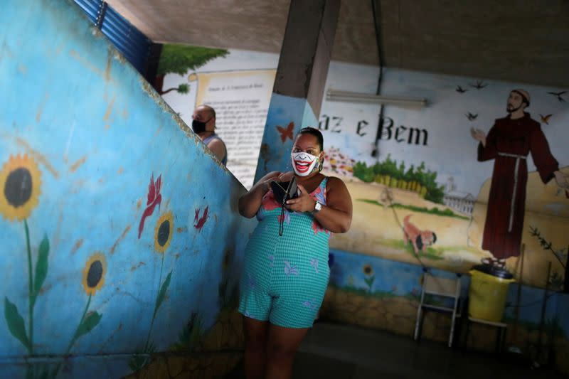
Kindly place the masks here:
<instances>
[{"instance_id":1,"label":"concrete pillar with blue lower part and painted red butterfly","mask_svg":"<svg viewBox=\"0 0 569 379\"><path fill-rule=\"evenodd\" d=\"M340 0L292 0L265 123L255 182L292 169L290 150L302 127L318 127Z\"/></svg>"}]
</instances>

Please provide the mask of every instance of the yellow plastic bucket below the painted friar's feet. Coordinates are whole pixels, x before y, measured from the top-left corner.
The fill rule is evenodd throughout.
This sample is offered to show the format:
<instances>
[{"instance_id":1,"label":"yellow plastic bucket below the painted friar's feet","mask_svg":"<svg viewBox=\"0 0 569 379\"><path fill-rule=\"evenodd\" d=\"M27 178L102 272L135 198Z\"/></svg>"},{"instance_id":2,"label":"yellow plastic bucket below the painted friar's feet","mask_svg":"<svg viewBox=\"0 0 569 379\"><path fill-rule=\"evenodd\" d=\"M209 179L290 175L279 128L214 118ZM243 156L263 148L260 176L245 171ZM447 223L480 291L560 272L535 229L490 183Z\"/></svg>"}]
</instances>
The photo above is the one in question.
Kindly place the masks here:
<instances>
[{"instance_id":1,"label":"yellow plastic bucket below the painted friar's feet","mask_svg":"<svg viewBox=\"0 0 569 379\"><path fill-rule=\"evenodd\" d=\"M515 280L496 277L477 269L470 270L469 274L468 315L474 319L500 322L506 307L508 286Z\"/></svg>"}]
</instances>

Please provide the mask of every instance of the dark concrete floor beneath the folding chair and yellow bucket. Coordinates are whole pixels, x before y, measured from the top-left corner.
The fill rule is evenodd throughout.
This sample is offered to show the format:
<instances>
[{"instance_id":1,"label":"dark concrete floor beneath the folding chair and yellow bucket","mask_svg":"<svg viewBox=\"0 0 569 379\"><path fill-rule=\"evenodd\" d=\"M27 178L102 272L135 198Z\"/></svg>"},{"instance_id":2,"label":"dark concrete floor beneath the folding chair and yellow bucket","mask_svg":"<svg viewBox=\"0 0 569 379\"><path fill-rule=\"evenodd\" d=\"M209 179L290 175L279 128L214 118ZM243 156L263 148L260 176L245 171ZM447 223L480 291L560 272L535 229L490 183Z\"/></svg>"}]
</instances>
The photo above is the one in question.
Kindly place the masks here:
<instances>
[{"instance_id":1,"label":"dark concrete floor beneath the folding chair and yellow bucket","mask_svg":"<svg viewBox=\"0 0 569 379\"><path fill-rule=\"evenodd\" d=\"M325 322L314 324L302 342L293 371L294 379L563 378L546 368L532 370L526 361L498 361L442 343L416 343L382 331ZM243 365L227 378L245 378Z\"/></svg>"}]
</instances>

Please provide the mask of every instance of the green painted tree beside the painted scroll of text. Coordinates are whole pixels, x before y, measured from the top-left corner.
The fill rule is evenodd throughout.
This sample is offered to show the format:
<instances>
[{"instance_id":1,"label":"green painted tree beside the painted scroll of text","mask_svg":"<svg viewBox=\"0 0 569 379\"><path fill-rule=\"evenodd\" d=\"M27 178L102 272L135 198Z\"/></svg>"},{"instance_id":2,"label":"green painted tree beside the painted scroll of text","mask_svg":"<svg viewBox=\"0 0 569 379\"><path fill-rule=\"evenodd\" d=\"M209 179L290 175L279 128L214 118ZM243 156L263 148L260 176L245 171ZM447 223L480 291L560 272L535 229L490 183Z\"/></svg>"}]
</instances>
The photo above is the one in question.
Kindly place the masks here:
<instances>
[{"instance_id":1,"label":"green painted tree beside the painted scroll of text","mask_svg":"<svg viewBox=\"0 0 569 379\"><path fill-rule=\"evenodd\" d=\"M228 50L222 48L204 48L202 46L170 45L162 46L158 73L154 79L154 88L160 95L171 91L188 93L189 85L183 83L178 87L171 87L163 90L164 77L166 74L175 73L185 75L188 70L196 70L215 58L223 58L229 54Z\"/></svg>"}]
</instances>

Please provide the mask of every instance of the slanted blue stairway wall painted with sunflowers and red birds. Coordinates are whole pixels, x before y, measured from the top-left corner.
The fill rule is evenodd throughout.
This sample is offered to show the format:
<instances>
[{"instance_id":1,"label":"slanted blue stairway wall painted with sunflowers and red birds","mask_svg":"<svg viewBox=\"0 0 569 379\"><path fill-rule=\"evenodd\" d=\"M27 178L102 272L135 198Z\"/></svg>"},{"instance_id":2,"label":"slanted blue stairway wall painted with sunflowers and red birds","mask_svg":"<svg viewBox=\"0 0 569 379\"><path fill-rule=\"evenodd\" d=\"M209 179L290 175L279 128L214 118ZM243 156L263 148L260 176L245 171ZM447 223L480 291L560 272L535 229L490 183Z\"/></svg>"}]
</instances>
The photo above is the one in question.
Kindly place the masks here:
<instances>
[{"instance_id":1,"label":"slanted blue stairway wall painted with sunflowers and red birds","mask_svg":"<svg viewBox=\"0 0 569 379\"><path fill-rule=\"evenodd\" d=\"M54 375L65 352L78 358L58 377L127 375L133 353L168 351L191 312L204 329L216 321L219 284L237 285L254 227L236 211L245 189L73 2L9 0L0 24L0 377ZM38 190L25 220L6 205L18 167ZM151 177L161 203L139 237ZM169 213L171 240L157 252ZM94 259L104 269L90 289ZM46 270L31 292L28 265L36 286ZM28 365L32 351L55 357Z\"/></svg>"}]
</instances>

